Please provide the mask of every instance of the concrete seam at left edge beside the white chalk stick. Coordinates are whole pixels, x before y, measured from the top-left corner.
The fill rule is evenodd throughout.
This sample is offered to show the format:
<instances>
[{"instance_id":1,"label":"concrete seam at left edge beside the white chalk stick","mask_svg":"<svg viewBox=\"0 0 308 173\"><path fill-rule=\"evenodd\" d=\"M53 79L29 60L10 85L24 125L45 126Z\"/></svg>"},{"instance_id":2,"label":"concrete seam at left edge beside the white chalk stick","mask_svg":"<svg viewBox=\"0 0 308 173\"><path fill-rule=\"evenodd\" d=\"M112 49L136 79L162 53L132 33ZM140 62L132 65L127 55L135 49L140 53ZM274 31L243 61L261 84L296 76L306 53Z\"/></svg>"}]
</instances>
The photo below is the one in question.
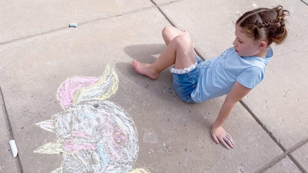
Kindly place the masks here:
<instances>
[{"instance_id":1,"label":"concrete seam at left edge beside the white chalk stick","mask_svg":"<svg viewBox=\"0 0 308 173\"><path fill-rule=\"evenodd\" d=\"M3 97L3 94L2 94L2 89L1 89L1 86L0 86L0 106L2 107L1 109L3 109L3 114L4 114L4 119L5 119L5 122L6 122L6 129L9 131L9 138L10 139L14 139L14 135L13 135L13 131L12 131L12 126L11 126L11 123L9 121L9 118L8 118L8 114L7 114L7 111L6 111L6 106L5 106L5 102L4 102L4 97ZM8 141L7 141L7 144L8 144ZM17 160L17 163L18 163L18 168L17 170L20 172L20 173L23 173L23 169L22 169L22 165L21 165L21 162L20 162L20 158L19 158L19 155L17 155L15 161Z\"/></svg>"}]
</instances>

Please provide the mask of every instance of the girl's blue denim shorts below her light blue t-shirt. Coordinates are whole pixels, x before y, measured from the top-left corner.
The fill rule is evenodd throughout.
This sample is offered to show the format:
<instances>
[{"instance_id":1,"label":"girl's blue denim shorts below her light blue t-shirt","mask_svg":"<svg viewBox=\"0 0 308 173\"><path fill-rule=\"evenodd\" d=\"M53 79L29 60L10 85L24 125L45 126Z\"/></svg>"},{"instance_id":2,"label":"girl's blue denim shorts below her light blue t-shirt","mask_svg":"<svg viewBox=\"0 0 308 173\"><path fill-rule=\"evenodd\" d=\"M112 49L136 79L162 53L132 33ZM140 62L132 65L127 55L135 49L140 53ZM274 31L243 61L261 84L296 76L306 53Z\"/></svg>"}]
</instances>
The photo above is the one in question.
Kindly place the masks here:
<instances>
[{"instance_id":1,"label":"girl's blue denim shorts below her light blue t-shirt","mask_svg":"<svg viewBox=\"0 0 308 173\"><path fill-rule=\"evenodd\" d=\"M197 63L200 64L202 59L196 54ZM197 86L198 82L198 66L185 74L172 73L173 87L176 94L184 101L188 103L195 103L190 94Z\"/></svg>"}]
</instances>

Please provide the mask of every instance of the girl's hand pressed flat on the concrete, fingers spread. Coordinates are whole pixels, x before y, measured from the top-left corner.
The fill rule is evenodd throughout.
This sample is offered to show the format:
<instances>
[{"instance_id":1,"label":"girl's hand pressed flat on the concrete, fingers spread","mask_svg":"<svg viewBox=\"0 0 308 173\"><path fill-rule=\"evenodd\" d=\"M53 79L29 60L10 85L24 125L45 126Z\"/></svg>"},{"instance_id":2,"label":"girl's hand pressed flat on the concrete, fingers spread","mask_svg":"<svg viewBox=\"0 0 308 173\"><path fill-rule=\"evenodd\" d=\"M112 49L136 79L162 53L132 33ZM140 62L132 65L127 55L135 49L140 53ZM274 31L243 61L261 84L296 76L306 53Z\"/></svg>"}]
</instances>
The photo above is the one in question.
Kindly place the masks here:
<instances>
[{"instance_id":1,"label":"girl's hand pressed flat on the concrete, fingers spread","mask_svg":"<svg viewBox=\"0 0 308 173\"><path fill-rule=\"evenodd\" d=\"M221 126L217 128L212 127L210 132L216 144L219 144L220 141L227 149L230 149L230 147L235 147L231 135L227 133Z\"/></svg>"}]
</instances>

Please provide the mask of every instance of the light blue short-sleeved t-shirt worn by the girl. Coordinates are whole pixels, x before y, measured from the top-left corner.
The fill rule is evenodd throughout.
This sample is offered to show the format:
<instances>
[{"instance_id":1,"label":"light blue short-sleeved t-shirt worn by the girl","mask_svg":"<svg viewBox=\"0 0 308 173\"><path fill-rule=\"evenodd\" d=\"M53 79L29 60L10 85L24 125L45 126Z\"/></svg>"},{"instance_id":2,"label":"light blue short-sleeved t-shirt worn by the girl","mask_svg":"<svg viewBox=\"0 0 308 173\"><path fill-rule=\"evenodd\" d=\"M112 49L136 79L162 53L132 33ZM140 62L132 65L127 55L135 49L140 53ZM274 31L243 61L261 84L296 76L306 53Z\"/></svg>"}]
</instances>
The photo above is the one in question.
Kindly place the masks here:
<instances>
[{"instance_id":1,"label":"light blue short-sleeved t-shirt worn by the girl","mask_svg":"<svg viewBox=\"0 0 308 173\"><path fill-rule=\"evenodd\" d=\"M191 93L192 99L201 103L227 94L235 81L248 88L256 87L262 81L265 66L273 54L269 47L265 58L242 57L231 47L220 56L205 60L198 65L199 79Z\"/></svg>"}]
</instances>

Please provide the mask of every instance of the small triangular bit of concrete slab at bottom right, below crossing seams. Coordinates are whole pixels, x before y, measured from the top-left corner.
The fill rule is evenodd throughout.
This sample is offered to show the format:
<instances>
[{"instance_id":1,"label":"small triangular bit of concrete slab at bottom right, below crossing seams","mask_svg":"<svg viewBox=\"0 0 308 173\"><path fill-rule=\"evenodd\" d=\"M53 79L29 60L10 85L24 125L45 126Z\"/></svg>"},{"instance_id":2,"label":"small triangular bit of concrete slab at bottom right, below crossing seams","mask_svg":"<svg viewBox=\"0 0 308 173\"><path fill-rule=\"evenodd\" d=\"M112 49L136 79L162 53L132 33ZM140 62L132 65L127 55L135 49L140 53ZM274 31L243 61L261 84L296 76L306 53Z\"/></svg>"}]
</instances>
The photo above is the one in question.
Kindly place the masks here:
<instances>
[{"instance_id":1,"label":"small triangular bit of concrete slab at bottom right, below crossing seams","mask_svg":"<svg viewBox=\"0 0 308 173\"><path fill-rule=\"evenodd\" d=\"M294 165L289 157L286 157L264 173L301 173L301 171Z\"/></svg>"}]
</instances>

